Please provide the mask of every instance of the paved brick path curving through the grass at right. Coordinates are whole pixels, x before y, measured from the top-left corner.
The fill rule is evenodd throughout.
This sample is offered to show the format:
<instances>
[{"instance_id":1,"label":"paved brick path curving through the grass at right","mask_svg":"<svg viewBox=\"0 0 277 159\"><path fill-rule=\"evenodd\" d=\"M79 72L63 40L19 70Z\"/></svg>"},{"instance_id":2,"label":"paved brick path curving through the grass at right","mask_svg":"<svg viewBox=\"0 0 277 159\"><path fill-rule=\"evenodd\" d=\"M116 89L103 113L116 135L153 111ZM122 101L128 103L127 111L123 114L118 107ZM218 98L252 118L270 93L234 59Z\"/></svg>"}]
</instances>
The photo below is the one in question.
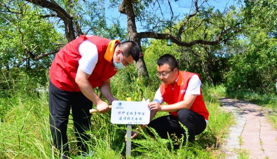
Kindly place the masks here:
<instances>
[{"instance_id":1,"label":"paved brick path curving through the grass at right","mask_svg":"<svg viewBox=\"0 0 277 159\"><path fill-rule=\"evenodd\" d=\"M248 150L249 158L277 159L277 130L266 119L269 112L242 100L221 98L219 101L233 113L236 122L230 127L224 145L227 158L238 158L236 151L242 148Z\"/></svg>"}]
</instances>

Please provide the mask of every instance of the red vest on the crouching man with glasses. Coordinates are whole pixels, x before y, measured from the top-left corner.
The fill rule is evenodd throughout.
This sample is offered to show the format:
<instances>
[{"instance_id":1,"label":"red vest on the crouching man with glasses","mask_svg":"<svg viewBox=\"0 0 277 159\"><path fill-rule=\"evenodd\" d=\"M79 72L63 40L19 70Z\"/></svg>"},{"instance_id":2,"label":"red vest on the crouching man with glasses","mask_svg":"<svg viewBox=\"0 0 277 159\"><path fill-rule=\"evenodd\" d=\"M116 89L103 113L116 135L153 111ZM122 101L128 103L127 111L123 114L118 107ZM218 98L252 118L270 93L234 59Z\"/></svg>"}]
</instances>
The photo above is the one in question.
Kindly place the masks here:
<instances>
[{"instance_id":1,"label":"red vest on the crouching man with glasses","mask_svg":"<svg viewBox=\"0 0 277 159\"><path fill-rule=\"evenodd\" d=\"M197 73L191 73L186 71L179 71L179 76L174 84L160 84L160 93L167 104L173 104L183 100L187 84L192 77L192 75ZM200 78L200 75L197 74ZM203 101L202 91L200 89L200 95L197 95L194 102L192 103L190 109L191 111L202 115L206 120L208 120L208 111L206 109L205 103ZM177 112L169 112L173 116L177 116Z\"/></svg>"}]
</instances>

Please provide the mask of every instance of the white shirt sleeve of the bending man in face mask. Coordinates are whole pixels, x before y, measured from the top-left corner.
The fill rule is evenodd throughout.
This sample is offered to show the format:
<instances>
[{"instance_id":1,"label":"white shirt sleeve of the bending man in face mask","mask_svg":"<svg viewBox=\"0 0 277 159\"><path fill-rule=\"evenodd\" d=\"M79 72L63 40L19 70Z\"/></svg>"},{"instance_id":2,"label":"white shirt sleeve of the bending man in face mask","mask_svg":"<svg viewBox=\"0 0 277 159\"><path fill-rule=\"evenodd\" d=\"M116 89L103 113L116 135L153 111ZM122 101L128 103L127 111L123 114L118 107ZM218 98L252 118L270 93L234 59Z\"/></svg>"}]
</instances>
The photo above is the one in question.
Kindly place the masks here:
<instances>
[{"instance_id":1,"label":"white shirt sleeve of the bending man in face mask","mask_svg":"<svg viewBox=\"0 0 277 159\"><path fill-rule=\"evenodd\" d=\"M86 74L91 74L98 61L98 50L94 43L89 40L84 40L79 44L79 53L81 58L79 59L79 67Z\"/></svg>"}]
</instances>

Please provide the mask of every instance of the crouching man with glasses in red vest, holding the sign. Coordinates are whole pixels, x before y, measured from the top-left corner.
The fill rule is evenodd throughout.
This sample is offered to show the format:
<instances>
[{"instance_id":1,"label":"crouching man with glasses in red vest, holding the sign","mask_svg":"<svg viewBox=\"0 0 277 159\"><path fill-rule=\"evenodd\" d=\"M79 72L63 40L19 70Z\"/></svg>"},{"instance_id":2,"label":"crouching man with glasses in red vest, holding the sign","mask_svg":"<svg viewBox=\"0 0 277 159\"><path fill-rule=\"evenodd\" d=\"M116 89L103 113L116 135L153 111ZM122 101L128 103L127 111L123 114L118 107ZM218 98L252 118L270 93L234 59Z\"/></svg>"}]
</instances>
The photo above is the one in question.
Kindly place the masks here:
<instances>
[{"instance_id":1,"label":"crouching man with glasses in red vest, holding the sign","mask_svg":"<svg viewBox=\"0 0 277 159\"><path fill-rule=\"evenodd\" d=\"M182 134L185 136L185 131L180 122L188 130L188 140L193 141L195 135L206 128L209 115L200 89L199 74L179 71L175 57L170 54L158 58L157 72L162 83L154 101L148 104L151 110L148 126L154 128L161 138L167 138L167 133L181 137ZM163 101L167 104L162 104ZM152 120L157 111L170 114ZM132 137L136 135L136 132L132 132Z\"/></svg>"}]
</instances>

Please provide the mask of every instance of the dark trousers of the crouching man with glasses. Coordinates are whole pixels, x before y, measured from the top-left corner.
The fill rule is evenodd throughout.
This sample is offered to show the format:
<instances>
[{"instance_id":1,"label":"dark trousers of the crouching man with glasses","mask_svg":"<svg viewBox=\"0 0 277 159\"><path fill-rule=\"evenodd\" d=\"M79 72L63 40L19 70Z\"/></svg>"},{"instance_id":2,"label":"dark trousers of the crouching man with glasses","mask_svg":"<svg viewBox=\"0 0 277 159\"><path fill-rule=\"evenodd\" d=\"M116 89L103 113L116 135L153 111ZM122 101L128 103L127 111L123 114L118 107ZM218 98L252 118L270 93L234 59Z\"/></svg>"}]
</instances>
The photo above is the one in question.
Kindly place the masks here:
<instances>
[{"instance_id":1,"label":"dark trousers of the crouching man with glasses","mask_svg":"<svg viewBox=\"0 0 277 159\"><path fill-rule=\"evenodd\" d=\"M167 133L169 136L171 134L175 134L177 137L181 137L181 134L185 136L185 131L179 121L188 130L188 141L193 141L195 135L200 134L206 128L204 117L188 109L179 110L178 117L171 114L160 116L152 120L148 126L154 128L161 138L168 138Z\"/></svg>"}]
</instances>

